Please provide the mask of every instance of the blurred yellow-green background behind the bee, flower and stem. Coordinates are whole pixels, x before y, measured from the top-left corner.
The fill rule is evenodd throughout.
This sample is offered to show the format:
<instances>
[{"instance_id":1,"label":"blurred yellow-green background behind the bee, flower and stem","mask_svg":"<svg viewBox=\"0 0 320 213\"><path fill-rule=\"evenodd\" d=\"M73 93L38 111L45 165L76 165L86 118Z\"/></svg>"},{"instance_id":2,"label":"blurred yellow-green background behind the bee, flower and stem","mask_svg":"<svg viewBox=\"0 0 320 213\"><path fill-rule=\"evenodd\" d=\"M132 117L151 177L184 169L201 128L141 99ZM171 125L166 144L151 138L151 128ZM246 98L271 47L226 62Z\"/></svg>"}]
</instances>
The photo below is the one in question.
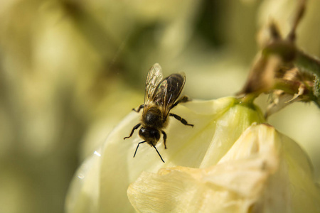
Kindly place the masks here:
<instances>
[{"instance_id":1,"label":"blurred yellow-green background behind the bee, flower and stem","mask_svg":"<svg viewBox=\"0 0 320 213\"><path fill-rule=\"evenodd\" d=\"M146 73L186 72L185 94L238 92L270 20L288 31L294 0L1 0L0 212L63 212L78 165L144 100ZM320 1L297 44L320 56ZM267 97L257 99L265 109ZM320 180L320 111L295 103L270 123L297 141Z\"/></svg>"}]
</instances>

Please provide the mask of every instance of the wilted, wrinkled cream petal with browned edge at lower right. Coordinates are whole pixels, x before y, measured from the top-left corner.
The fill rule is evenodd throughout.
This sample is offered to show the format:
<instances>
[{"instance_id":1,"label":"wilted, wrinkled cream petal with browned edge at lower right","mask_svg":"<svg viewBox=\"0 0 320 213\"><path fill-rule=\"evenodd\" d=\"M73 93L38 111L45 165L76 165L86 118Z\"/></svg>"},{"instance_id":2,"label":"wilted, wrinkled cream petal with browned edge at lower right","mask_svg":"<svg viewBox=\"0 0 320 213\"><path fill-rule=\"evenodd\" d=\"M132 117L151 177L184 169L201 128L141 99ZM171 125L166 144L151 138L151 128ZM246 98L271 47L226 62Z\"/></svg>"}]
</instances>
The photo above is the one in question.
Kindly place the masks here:
<instances>
[{"instance_id":1,"label":"wilted, wrinkled cream petal with browned edge at lower right","mask_svg":"<svg viewBox=\"0 0 320 213\"><path fill-rule=\"evenodd\" d=\"M250 126L217 165L144 172L127 194L137 212L320 210L309 158L265 124Z\"/></svg>"}]
</instances>

